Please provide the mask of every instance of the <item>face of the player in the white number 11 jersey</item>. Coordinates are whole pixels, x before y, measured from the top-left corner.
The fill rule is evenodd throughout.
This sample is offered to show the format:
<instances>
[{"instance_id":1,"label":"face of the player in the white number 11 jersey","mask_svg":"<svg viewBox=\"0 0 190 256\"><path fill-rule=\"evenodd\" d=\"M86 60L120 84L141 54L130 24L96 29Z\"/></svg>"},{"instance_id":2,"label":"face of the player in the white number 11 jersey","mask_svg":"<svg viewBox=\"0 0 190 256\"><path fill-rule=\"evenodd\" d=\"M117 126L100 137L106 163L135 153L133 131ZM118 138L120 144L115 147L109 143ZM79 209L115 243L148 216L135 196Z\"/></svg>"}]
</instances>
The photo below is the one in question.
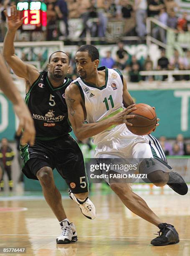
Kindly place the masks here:
<instances>
[{"instance_id":1,"label":"face of the player in the white number 11 jersey","mask_svg":"<svg viewBox=\"0 0 190 256\"><path fill-rule=\"evenodd\" d=\"M79 77L88 79L98 67L99 60L91 61L88 51L77 51L75 56L76 68Z\"/></svg>"}]
</instances>

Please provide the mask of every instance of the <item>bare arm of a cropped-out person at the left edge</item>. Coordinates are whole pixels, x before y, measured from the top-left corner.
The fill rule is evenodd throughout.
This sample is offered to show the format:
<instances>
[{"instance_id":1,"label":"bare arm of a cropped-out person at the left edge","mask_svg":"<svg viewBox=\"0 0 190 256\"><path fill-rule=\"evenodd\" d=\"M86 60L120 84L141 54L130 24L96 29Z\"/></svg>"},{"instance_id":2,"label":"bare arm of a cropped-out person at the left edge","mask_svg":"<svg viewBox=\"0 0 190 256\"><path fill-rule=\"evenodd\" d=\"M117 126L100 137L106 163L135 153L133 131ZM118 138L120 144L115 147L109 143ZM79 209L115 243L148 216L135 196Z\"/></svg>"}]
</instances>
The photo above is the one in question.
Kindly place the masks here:
<instances>
[{"instance_id":1,"label":"bare arm of a cropped-out person at the left edge","mask_svg":"<svg viewBox=\"0 0 190 256\"><path fill-rule=\"evenodd\" d=\"M20 120L17 134L20 135L22 129L24 129L22 142L30 142L30 144L33 145L35 140L35 128L33 124L33 119L20 95L20 92L13 84L13 80L10 77L10 74L1 54L0 67L0 89L5 93L8 99L13 102L15 113Z\"/></svg>"}]
</instances>

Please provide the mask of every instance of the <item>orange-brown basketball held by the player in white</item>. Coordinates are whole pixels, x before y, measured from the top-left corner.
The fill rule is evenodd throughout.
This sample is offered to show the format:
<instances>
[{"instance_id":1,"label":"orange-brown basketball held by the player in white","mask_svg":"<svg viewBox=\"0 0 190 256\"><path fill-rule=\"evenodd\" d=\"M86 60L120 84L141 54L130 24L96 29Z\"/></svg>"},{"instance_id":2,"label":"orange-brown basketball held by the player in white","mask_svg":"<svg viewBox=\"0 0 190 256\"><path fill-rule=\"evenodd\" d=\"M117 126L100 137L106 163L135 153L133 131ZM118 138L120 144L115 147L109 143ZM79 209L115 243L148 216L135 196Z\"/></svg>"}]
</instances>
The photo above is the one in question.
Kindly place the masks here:
<instances>
[{"instance_id":1,"label":"orange-brown basketball held by the player in white","mask_svg":"<svg viewBox=\"0 0 190 256\"><path fill-rule=\"evenodd\" d=\"M135 117L127 119L133 126L127 125L127 128L134 134L147 135L155 128L157 123L156 112L151 106L144 103L136 104L134 107L137 109L129 115L135 115Z\"/></svg>"}]
</instances>

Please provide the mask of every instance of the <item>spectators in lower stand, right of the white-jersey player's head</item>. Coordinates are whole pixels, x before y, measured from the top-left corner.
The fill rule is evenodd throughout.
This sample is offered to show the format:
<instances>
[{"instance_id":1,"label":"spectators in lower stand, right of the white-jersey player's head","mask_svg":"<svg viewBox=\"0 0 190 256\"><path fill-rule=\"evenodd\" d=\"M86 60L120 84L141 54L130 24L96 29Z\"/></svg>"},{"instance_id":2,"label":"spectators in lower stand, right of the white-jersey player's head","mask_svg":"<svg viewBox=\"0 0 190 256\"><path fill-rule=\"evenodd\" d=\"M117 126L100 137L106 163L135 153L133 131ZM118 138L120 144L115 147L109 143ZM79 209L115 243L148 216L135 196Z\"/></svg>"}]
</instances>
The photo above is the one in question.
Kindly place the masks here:
<instances>
[{"instance_id":1,"label":"spectators in lower stand, right of the white-jersey player's head","mask_svg":"<svg viewBox=\"0 0 190 256\"><path fill-rule=\"evenodd\" d=\"M101 58L101 66L109 68L117 68L122 70L123 74L130 82L140 81L164 81L167 80L167 75L149 75L141 76L140 71L152 71L152 70L189 70L190 69L190 50L185 52L185 56L180 56L179 51L174 50L174 54L170 59L166 57L165 50L162 49L161 56L157 60L157 64L153 65L153 61L148 55L146 59L137 59L135 55L130 55L125 49L122 42L118 43L118 50L114 54L114 58L111 56L111 52L107 51L105 56ZM173 75L173 80L182 81L190 80L190 75Z\"/></svg>"}]
</instances>

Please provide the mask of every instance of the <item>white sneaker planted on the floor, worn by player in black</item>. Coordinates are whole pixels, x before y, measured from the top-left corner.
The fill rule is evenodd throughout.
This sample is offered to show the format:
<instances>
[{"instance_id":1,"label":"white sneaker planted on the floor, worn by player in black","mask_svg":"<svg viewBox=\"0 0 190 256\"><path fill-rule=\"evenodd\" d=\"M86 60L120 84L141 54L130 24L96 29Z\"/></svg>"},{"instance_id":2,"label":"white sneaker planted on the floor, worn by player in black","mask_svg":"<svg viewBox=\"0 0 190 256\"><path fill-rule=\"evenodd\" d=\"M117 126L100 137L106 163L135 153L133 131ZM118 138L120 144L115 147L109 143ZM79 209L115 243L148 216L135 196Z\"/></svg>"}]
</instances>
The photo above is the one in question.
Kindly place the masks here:
<instances>
[{"instance_id":1,"label":"white sneaker planted on the floor, worn by player in black","mask_svg":"<svg viewBox=\"0 0 190 256\"><path fill-rule=\"evenodd\" d=\"M77 241L77 233L75 225L67 220L62 221L61 225L61 236L56 239L57 243L73 243Z\"/></svg>"}]
</instances>

